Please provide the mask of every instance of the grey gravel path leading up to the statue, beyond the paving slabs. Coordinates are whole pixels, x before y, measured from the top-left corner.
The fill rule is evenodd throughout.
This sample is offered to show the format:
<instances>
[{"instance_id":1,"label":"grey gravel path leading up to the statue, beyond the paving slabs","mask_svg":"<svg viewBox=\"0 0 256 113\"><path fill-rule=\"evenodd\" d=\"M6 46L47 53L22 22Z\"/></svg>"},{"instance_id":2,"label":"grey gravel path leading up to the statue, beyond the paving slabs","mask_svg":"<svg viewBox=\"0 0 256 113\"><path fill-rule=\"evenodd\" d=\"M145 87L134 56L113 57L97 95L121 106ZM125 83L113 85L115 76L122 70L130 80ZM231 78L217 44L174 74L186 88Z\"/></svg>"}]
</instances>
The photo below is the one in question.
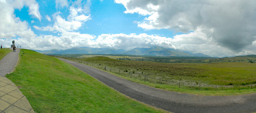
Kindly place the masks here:
<instances>
[{"instance_id":1,"label":"grey gravel path leading up to the statue, beyond the paving slabs","mask_svg":"<svg viewBox=\"0 0 256 113\"><path fill-rule=\"evenodd\" d=\"M12 48L11 48L12 49ZM16 52L10 52L4 56L0 61L0 76L5 76L13 71L17 64L20 49Z\"/></svg>"}]
</instances>

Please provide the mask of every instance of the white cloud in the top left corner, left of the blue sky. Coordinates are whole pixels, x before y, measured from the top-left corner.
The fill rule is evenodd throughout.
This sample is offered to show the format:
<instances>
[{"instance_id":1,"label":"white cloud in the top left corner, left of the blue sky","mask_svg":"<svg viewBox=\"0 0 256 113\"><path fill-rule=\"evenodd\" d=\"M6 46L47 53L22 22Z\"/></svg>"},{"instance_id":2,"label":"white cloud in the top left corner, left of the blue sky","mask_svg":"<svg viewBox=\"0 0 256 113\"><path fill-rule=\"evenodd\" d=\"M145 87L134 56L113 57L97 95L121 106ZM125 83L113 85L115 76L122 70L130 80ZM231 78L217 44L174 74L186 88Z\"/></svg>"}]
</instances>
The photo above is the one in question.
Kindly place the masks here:
<instances>
[{"instance_id":1,"label":"white cloud in the top left corner, left of the blue sky","mask_svg":"<svg viewBox=\"0 0 256 113\"><path fill-rule=\"evenodd\" d=\"M34 3L34 4L33 4ZM33 5L31 5L33 4ZM29 6L29 13L35 17L41 18L38 9L30 8L38 5L36 2L27 3L27 1L0 1L0 38L12 38L16 36L24 38L32 38L35 36L34 32L28 27L27 21L21 21L14 15L14 9L21 9L24 5ZM34 11L32 11L34 10Z\"/></svg>"}]
</instances>

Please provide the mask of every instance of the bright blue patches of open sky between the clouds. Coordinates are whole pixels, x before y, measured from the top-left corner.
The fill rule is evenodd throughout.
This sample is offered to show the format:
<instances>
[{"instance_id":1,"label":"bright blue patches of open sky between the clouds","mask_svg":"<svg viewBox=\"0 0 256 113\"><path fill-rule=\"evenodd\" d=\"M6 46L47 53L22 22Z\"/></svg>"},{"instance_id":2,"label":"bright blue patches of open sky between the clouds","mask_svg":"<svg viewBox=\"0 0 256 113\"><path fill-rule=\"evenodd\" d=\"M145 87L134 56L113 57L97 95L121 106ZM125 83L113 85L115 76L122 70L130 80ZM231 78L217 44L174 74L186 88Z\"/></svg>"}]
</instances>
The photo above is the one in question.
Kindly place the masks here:
<instances>
[{"instance_id":1,"label":"bright blue patches of open sky between the clouds","mask_svg":"<svg viewBox=\"0 0 256 113\"><path fill-rule=\"evenodd\" d=\"M58 35L57 33L40 31L32 26L47 26L53 24L54 21L48 21L44 18L46 15L53 15L55 12L61 12L61 16L67 19L69 15L69 7L56 8L56 3L53 0L41 0L37 1L39 3L40 14L42 15L41 21L36 18L32 18L28 15L28 7L24 6L23 9L16 9L14 14L23 21L28 21L29 26L34 31L35 34L45 34L45 35ZM165 37L173 37L176 34L183 34L182 32L174 32L170 29L160 29L160 30L144 30L138 27L136 21L142 21L145 17L137 13L125 14L126 11L124 5L117 4L114 0L93 0L91 1L89 14L91 15L91 20L88 20L84 25L76 30L80 33L101 35L101 34L141 34L146 33L148 35L159 35ZM34 21L31 23L31 21Z\"/></svg>"}]
</instances>

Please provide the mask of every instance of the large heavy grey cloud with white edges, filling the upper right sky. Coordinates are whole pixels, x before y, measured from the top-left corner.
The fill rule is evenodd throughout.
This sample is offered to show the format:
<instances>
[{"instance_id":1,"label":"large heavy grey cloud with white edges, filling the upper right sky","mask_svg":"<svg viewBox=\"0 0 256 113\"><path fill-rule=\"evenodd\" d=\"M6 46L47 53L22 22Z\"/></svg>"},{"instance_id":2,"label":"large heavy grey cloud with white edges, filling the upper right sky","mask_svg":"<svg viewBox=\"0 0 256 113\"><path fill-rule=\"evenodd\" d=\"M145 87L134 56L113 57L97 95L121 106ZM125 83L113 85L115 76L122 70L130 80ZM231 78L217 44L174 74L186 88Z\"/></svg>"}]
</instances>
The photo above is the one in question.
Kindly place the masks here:
<instances>
[{"instance_id":1,"label":"large heavy grey cloud with white edges, filling the upper right sky","mask_svg":"<svg viewBox=\"0 0 256 113\"><path fill-rule=\"evenodd\" d=\"M217 45L241 51L256 40L256 1L249 0L115 0L125 13L148 15L138 22L146 30L188 33L198 28ZM208 31L211 30L211 31Z\"/></svg>"}]
</instances>

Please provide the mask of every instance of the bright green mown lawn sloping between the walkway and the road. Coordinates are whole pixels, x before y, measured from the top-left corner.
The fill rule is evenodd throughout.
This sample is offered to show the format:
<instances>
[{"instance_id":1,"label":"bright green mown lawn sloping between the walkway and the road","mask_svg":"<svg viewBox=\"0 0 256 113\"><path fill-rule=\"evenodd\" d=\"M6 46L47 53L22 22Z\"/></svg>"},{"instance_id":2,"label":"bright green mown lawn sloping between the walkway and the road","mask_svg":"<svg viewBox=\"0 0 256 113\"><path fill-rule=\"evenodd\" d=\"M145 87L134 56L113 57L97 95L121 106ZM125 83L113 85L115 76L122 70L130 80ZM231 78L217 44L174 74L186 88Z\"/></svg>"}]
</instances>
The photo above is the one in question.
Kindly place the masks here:
<instances>
[{"instance_id":1,"label":"bright green mown lawn sloping between the walkway and the road","mask_svg":"<svg viewBox=\"0 0 256 113\"><path fill-rule=\"evenodd\" d=\"M81 70L31 50L21 50L16 70L6 77L45 112L166 112L148 107L104 85Z\"/></svg>"}]
</instances>

